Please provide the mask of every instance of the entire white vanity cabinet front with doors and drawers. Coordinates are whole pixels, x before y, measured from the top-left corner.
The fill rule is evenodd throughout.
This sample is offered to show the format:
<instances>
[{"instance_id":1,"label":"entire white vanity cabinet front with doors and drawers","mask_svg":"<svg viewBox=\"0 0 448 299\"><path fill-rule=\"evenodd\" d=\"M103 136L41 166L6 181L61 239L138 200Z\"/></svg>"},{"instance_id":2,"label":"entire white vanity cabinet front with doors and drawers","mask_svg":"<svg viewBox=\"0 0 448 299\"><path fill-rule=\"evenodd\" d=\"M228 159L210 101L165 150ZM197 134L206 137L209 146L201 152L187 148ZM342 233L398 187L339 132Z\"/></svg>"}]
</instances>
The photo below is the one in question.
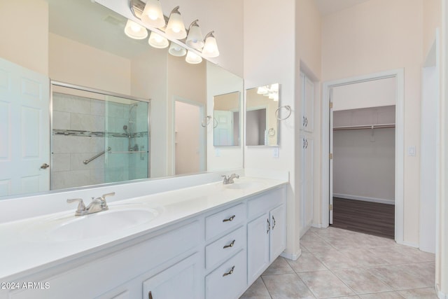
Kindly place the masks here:
<instances>
[{"instance_id":1,"label":"entire white vanity cabinet front with doors and drawers","mask_svg":"<svg viewBox=\"0 0 448 299\"><path fill-rule=\"evenodd\" d=\"M8 277L48 288L0 298L236 299L286 248L286 186L252 194Z\"/></svg>"}]
</instances>

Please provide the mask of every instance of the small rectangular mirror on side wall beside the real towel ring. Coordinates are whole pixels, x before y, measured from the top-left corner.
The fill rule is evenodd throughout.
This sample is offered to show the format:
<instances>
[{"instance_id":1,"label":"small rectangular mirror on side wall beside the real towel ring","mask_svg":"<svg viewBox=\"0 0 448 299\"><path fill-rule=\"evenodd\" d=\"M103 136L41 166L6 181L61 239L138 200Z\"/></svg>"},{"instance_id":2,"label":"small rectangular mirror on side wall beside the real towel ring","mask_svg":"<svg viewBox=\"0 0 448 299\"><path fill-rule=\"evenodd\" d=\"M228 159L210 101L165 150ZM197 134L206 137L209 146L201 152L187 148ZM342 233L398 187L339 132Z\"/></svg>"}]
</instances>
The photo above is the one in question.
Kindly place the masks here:
<instances>
[{"instance_id":1,"label":"small rectangular mirror on side wall beside the real towel ring","mask_svg":"<svg viewBox=\"0 0 448 299\"><path fill-rule=\"evenodd\" d=\"M246 146L279 144L279 84L246 90Z\"/></svg>"}]
</instances>

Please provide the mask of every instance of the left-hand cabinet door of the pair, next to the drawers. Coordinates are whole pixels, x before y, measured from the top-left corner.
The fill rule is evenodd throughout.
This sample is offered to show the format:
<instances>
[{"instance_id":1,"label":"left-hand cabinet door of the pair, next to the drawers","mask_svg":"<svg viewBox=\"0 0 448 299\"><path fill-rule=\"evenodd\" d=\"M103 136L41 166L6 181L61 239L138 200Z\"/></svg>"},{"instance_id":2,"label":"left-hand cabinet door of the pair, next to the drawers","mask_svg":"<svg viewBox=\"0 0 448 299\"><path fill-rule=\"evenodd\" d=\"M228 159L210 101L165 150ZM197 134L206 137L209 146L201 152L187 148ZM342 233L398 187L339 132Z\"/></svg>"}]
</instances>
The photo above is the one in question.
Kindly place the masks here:
<instances>
[{"instance_id":1,"label":"left-hand cabinet door of the pair, next to the drawers","mask_svg":"<svg viewBox=\"0 0 448 299\"><path fill-rule=\"evenodd\" d=\"M247 224L248 284L252 284L269 265L269 214Z\"/></svg>"}]
</instances>

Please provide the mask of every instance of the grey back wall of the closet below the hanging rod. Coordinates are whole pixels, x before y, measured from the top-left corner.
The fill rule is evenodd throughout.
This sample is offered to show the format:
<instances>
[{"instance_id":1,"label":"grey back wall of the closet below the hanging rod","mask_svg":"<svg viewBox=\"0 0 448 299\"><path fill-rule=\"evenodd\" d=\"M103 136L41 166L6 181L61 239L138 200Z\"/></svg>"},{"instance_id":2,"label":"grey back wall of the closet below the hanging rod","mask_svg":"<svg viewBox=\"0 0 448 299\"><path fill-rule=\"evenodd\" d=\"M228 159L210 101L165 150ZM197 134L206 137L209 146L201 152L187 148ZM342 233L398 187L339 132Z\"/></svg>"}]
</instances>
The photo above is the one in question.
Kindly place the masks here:
<instances>
[{"instance_id":1,"label":"grey back wall of the closet below the hanging rod","mask_svg":"<svg viewBox=\"0 0 448 299\"><path fill-rule=\"evenodd\" d=\"M333 132L333 196L395 202L395 129Z\"/></svg>"}]
</instances>

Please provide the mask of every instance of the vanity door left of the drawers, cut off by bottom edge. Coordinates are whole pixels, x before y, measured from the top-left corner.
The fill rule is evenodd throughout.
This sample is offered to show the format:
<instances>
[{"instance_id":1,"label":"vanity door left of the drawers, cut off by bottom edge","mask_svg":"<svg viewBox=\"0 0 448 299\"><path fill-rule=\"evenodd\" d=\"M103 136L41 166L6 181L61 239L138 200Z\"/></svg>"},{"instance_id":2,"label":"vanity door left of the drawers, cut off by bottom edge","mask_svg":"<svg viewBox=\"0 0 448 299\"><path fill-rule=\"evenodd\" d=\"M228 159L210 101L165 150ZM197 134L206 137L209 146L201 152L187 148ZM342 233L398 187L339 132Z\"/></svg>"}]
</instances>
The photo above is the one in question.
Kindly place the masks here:
<instances>
[{"instance_id":1,"label":"vanity door left of the drawers, cut off by bottom edge","mask_svg":"<svg viewBox=\"0 0 448 299\"><path fill-rule=\"evenodd\" d=\"M201 298L198 286L199 253L176 263L143 283L144 299Z\"/></svg>"}]
</instances>

